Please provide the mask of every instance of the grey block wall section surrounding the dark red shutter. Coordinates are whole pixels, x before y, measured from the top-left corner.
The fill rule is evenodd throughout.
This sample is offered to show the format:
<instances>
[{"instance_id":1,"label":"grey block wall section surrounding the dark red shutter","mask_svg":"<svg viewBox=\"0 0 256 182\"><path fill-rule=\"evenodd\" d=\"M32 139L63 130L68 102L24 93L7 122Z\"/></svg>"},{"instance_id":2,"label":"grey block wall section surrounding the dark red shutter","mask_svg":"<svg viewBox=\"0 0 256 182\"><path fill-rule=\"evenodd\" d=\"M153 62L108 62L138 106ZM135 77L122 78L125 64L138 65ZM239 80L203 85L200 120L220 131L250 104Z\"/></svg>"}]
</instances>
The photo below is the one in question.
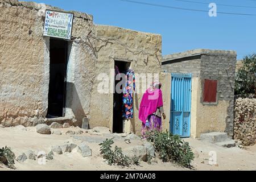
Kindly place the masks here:
<instances>
[{"instance_id":1,"label":"grey block wall section surrounding the dark red shutter","mask_svg":"<svg viewBox=\"0 0 256 182\"><path fill-rule=\"evenodd\" d=\"M234 51L205 51L204 55L201 57L201 104L203 104L204 79L211 78L218 80L218 111L216 114L226 115L224 121L226 127L224 131L229 134L229 137L233 137L234 128L234 77L236 75L236 57L237 55ZM224 102L225 104L221 104ZM226 106L226 102L228 102L228 106ZM207 104L203 105L207 107ZM210 115L208 117L210 117ZM205 122L205 119L206 118L201 122Z\"/></svg>"}]
</instances>

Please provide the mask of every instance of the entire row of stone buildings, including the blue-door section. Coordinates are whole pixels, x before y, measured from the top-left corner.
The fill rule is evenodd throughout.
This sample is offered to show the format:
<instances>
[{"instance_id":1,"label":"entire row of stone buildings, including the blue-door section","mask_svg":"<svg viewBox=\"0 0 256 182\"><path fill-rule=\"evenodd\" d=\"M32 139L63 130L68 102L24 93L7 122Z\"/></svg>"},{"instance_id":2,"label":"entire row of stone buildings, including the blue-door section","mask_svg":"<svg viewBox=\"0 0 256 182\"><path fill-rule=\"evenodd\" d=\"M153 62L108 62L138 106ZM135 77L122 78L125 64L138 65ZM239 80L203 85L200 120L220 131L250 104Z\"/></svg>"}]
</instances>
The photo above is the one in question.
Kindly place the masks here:
<instances>
[{"instance_id":1,"label":"entire row of stone buildings, including the blue-door section","mask_svg":"<svg viewBox=\"0 0 256 182\"><path fill-rule=\"evenodd\" d=\"M197 49L162 60L162 36L97 25L92 15L76 11L69 11L73 13L71 39L50 38L43 36L46 9L63 11L34 2L0 0L3 126L56 121L81 127L87 117L91 128L140 134L138 109L148 87L142 80L146 78L148 84L157 79L156 74L163 83L167 117L163 131L177 131L182 137L210 131L233 135L236 52ZM123 72L133 69L139 91L134 94L134 117L124 122L113 109L116 97L121 96L111 92L115 66ZM107 85L104 92L102 85ZM209 93L204 92L205 85Z\"/></svg>"}]
</instances>

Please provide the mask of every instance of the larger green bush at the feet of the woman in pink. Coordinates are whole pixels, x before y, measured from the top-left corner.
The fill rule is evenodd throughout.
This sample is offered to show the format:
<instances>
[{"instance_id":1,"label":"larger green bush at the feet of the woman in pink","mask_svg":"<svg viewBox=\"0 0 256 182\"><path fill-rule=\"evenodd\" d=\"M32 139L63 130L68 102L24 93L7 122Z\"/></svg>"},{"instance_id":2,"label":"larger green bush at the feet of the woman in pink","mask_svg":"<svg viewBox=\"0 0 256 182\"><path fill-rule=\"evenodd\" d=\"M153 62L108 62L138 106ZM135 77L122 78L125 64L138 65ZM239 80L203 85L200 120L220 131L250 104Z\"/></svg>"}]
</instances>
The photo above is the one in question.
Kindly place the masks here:
<instances>
[{"instance_id":1,"label":"larger green bush at the feet of the woman in pink","mask_svg":"<svg viewBox=\"0 0 256 182\"><path fill-rule=\"evenodd\" d=\"M175 162L183 167L192 167L191 162L195 156L188 142L168 131L166 133L150 131L146 136L149 142L154 143L155 151L163 162Z\"/></svg>"}]
</instances>

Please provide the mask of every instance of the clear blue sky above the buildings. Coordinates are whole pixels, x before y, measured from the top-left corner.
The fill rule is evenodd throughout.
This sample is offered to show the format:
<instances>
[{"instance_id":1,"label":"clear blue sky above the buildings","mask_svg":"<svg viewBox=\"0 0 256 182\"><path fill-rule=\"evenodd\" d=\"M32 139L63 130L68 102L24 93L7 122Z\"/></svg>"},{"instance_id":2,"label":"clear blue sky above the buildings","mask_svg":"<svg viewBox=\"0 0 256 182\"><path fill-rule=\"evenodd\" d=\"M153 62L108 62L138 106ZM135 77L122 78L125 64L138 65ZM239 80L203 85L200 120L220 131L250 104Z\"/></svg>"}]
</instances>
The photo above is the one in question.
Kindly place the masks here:
<instances>
[{"instance_id":1,"label":"clear blue sky above the buildings","mask_svg":"<svg viewBox=\"0 0 256 182\"><path fill-rule=\"evenodd\" d=\"M67 11L92 14L96 24L160 34L163 55L197 48L224 49L237 51L237 59L240 60L246 55L256 53L256 0L134 1L204 11L209 11L209 3L214 2L217 5L217 16L210 17L208 12L149 6L121 0L34 0Z\"/></svg>"}]
</instances>

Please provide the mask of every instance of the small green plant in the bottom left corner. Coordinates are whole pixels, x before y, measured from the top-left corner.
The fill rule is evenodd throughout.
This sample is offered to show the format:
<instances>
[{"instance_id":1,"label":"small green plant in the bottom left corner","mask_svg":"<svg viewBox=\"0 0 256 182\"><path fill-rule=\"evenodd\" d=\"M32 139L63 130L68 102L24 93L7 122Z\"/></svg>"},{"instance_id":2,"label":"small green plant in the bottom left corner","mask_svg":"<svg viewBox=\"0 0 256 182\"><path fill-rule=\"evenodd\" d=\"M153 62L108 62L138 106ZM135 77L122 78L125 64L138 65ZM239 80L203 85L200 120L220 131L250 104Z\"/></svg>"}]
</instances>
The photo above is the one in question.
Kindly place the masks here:
<instances>
[{"instance_id":1,"label":"small green plant in the bottom left corner","mask_svg":"<svg viewBox=\"0 0 256 182\"><path fill-rule=\"evenodd\" d=\"M11 151L10 147L3 147L0 148L0 162L5 164L11 169L15 169L14 167L14 159L15 154L13 151Z\"/></svg>"}]
</instances>

